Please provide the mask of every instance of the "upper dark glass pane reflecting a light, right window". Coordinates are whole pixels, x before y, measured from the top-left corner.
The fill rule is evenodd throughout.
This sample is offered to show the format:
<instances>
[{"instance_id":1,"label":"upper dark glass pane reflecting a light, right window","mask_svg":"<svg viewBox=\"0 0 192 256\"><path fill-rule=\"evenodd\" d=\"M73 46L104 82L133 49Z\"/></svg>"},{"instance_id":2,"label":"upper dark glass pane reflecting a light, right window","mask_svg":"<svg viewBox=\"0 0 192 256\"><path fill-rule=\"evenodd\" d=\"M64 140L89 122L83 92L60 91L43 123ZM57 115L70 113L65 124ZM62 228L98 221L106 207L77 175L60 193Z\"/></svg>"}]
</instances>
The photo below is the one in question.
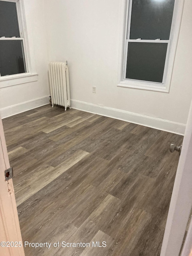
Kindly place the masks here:
<instances>
[{"instance_id":1,"label":"upper dark glass pane reflecting a light, right window","mask_svg":"<svg viewBox=\"0 0 192 256\"><path fill-rule=\"evenodd\" d=\"M175 0L133 0L130 39L169 40Z\"/></svg>"}]
</instances>

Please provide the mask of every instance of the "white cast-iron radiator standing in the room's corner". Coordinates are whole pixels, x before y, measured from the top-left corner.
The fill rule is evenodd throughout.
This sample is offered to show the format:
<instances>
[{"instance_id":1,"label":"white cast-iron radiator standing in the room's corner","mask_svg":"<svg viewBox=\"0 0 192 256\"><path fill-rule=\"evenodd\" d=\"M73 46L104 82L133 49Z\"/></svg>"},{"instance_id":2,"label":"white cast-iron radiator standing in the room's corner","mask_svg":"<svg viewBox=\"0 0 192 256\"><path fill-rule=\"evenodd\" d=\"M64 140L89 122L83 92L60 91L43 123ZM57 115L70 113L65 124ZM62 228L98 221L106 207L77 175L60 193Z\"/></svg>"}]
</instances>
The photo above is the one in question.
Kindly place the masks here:
<instances>
[{"instance_id":1,"label":"white cast-iron radiator standing in the room's corner","mask_svg":"<svg viewBox=\"0 0 192 256\"><path fill-rule=\"evenodd\" d=\"M69 69L66 62L49 63L49 82L52 107L60 105L70 108Z\"/></svg>"}]
</instances>

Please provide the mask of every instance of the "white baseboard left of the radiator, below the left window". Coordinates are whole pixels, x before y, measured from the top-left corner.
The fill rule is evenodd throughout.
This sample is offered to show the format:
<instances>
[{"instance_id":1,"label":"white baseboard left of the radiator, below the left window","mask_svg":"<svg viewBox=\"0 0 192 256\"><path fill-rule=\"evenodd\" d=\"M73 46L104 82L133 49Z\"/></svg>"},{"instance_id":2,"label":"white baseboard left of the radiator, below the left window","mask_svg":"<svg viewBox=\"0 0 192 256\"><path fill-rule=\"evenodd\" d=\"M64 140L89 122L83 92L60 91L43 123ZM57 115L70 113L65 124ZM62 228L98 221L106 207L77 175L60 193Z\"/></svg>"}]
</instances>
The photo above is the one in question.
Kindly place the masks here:
<instances>
[{"instance_id":1,"label":"white baseboard left of the radiator, below the left window","mask_svg":"<svg viewBox=\"0 0 192 256\"><path fill-rule=\"evenodd\" d=\"M49 104L49 96L41 97L35 100L26 101L10 107L5 107L0 109L1 118L6 118L8 116L13 116L22 112L25 112L36 107L41 107Z\"/></svg>"}]
</instances>

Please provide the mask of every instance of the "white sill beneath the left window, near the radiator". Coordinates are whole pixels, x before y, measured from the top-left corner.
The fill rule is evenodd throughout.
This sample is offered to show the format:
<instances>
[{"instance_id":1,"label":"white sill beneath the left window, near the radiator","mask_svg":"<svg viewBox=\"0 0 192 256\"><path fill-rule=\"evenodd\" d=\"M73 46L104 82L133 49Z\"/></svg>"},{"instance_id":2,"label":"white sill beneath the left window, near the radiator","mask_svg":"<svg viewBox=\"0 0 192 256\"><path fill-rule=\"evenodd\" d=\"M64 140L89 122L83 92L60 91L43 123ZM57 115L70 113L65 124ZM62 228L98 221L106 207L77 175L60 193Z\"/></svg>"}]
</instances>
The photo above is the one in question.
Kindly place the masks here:
<instances>
[{"instance_id":1,"label":"white sill beneath the left window, near the radiator","mask_svg":"<svg viewBox=\"0 0 192 256\"><path fill-rule=\"evenodd\" d=\"M23 83L35 82L38 80L38 74L19 74L7 77L0 77L0 88L14 86Z\"/></svg>"}]
</instances>

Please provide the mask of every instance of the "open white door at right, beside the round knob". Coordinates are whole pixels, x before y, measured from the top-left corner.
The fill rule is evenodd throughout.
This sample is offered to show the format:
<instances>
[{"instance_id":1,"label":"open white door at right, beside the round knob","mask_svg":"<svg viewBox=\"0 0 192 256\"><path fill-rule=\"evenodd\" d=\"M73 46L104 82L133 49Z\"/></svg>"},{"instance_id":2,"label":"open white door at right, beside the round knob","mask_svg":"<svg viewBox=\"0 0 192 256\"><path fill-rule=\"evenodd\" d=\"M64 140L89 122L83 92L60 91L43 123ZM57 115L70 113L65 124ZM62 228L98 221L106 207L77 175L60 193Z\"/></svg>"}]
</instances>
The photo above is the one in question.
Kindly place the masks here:
<instances>
[{"instance_id":1,"label":"open white door at right, beside the round knob","mask_svg":"<svg viewBox=\"0 0 192 256\"><path fill-rule=\"evenodd\" d=\"M176 154L176 152L174 153ZM160 256L179 256L192 206L192 103L177 167ZM187 236L187 239L189 236ZM187 242L187 240L186 240ZM192 244L192 243L191 243ZM191 256L192 254L182 254Z\"/></svg>"}]
</instances>

